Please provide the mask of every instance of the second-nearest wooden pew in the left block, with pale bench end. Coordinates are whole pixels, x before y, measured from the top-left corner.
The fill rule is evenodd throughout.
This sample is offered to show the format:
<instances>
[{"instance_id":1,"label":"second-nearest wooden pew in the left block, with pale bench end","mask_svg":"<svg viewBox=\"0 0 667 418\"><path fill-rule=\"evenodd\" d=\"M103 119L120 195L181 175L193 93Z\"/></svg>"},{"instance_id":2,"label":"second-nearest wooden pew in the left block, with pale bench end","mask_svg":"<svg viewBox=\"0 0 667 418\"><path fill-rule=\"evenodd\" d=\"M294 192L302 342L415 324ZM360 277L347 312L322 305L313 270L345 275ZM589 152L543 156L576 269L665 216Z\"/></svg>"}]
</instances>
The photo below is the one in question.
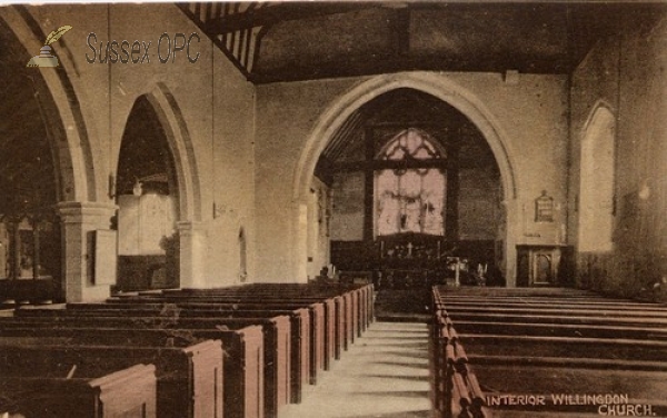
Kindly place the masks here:
<instances>
[{"instance_id":1,"label":"second-nearest wooden pew in the left block, with pale bench end","mask_svg":"<svg viewBox=\"0 0 667 418\"><path fill-rule=\"evenodd\" d=\"M99 338L99 337L98 337ZM207 340L188 347L26 344L0 341L2 378L104 375L137 364L156 366L158 417L221 417L222 349ZM74 368L76 367L76 368ZM128 387L126 387L126 390Z\"/></svg>"}]
</instances>

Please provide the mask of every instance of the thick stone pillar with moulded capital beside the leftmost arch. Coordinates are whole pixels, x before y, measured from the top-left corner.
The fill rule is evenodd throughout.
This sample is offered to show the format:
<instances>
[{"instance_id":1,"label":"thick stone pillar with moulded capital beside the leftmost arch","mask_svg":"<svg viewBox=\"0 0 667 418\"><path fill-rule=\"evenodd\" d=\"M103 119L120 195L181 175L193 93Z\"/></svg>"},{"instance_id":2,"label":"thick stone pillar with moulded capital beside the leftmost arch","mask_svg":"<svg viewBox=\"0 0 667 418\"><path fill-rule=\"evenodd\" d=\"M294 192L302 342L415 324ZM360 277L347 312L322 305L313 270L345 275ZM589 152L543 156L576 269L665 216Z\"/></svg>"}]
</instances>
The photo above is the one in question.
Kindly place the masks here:
<instances>
[{"instance_id":1,"label":"thick stone pillar with moulded capital beside the leftmost arch","mask_svg":"<svg viewBox=\"0 0 667 418\"><path fill-rule=\"evenodd\" d=\"M96 285L94 281L94 231L108 230L117 209L116 205L101 202L58 203L66 301L97 301L109 297L109 285Z\"/></svg>"}]
</instances>

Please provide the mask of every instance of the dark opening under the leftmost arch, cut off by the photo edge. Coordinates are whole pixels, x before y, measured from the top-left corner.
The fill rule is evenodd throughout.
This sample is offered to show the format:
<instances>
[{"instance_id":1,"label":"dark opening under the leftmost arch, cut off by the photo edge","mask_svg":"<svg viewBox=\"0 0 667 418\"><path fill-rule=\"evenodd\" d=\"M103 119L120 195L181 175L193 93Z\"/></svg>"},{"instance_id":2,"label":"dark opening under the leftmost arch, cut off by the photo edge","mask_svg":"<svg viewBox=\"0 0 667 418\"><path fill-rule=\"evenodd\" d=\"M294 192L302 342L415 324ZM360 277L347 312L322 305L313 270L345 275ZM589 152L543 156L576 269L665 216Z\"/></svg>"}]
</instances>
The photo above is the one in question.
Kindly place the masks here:
<instances>
[{"instance_id":1,"label":"dark opening under the leftmost arch, cut off by the photo edge","mask_svg":"<svg viewBox=\"0 0 667 418\"><path fill-rule=\"evenodd\" d=\"M52 98L0 19L0 302L62 298L59 151Z\"/></svg>"}]
</instances>

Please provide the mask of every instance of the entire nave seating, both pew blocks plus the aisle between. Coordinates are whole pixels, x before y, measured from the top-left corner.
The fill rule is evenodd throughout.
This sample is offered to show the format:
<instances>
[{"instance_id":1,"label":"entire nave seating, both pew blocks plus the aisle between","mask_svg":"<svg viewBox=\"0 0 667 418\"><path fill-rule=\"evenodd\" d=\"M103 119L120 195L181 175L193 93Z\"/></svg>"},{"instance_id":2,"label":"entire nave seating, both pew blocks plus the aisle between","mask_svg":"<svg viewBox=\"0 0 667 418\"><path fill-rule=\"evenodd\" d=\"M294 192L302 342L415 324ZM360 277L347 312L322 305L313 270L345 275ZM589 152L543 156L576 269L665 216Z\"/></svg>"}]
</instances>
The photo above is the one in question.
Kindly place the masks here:
<instances>
[{"instance_id":1,"label":"entire nave seating, both pew blocks plus the aisle between","mask_svg":"<svg viewBox=\"0 0 667 418\"><path fill-rule=\"evenodd\" d=\"M664 305L435 287L427 324L406 312L414 295L382 292L380 312L372 296L370 286L265 283L4 310L0 414L667 415ZM387 300L402 312L374 321L389 318Z\"/></svg>"}]
</instances>

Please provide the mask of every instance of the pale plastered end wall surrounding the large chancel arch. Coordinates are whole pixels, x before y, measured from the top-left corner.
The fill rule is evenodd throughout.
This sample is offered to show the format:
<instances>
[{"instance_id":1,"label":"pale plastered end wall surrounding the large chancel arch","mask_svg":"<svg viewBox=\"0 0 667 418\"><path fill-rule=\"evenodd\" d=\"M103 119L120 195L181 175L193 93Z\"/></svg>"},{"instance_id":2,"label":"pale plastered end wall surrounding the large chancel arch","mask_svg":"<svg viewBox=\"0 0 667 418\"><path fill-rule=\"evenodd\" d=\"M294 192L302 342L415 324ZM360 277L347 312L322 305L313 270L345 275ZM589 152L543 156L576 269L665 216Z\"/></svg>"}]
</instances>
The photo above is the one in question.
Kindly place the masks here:
<instances>
[{"instance_id":1,"label":"pale plastered end wall surrounding the large chancel arch","mask_svg":"<svg viewBox=\"0 0 667 418\"><path fill-rule=\"evenodd\" d=\"M321 119L348 100L365 82L400 84L401 77L378 76L273 83L257 87L257 175L258 253L271 262L258 263L258 276L271 269L276 277L302 281L298 276L303 257L295 255L297 246L285 246L286 236L298 239L298 176L300 160L308 152L309 141L326 142L328 138L311 138ZM489 117L502 138L500 146L509 156L515 190L508 190L505 205L512 211L508 225L514 243L559 243L565 240L565 210L568 150L567 78L560 76L520 74L518 83L507 83L499 73L429 73L436 86L455 88L468 94ZM399 80L399 81L396 81ZM381 90L381 87L380 87ZM359 102L372 99L372 93ZM496 145L496 149L498 145ZM311 172L307 173L308 176ZM557 203L557 221L534 222L534 199L547 190ZM291 208L291 210L286 210ZM514 245L511 243L511 245ZM508 249L508 251L511 251ZM511 262L516 262L511 259ZM514 266L508 266L514 277ZM295 277L295 275L297 277ZM511 281L510 281L511 282Z\"/></svg>"}]
</instances>

